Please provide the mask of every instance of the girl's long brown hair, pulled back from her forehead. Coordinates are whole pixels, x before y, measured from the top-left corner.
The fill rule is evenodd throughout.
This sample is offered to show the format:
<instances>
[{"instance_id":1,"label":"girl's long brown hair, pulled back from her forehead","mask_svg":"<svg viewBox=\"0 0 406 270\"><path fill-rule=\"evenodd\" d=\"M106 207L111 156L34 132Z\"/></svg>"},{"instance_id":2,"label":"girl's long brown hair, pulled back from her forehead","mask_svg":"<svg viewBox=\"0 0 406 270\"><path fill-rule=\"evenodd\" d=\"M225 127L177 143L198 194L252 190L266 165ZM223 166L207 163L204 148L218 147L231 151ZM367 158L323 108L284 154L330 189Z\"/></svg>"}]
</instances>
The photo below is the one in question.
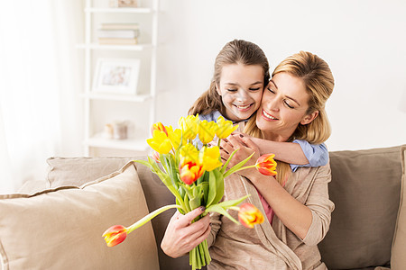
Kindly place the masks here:
<instances>
[{"instance_id":1,"label":"girl's long brown hair, pulled back from her forehead","mask_svg":"<svg viewBox=\"0 0 406 270\"><path fill-rule=\"evenodd\" d=\"M190 107L189 114L208 114L218 111L226 115L226 108L217 93L216 85L220 83L221 70L226 65L243 64L246 66L258 65L263 67L263 85L267 85L269 75L269 63L258 45L246 40L232 40L226 43L217 55L214 65L214 75L208 90L198 97L198 100Z\"/></svg>"}]
</instances>

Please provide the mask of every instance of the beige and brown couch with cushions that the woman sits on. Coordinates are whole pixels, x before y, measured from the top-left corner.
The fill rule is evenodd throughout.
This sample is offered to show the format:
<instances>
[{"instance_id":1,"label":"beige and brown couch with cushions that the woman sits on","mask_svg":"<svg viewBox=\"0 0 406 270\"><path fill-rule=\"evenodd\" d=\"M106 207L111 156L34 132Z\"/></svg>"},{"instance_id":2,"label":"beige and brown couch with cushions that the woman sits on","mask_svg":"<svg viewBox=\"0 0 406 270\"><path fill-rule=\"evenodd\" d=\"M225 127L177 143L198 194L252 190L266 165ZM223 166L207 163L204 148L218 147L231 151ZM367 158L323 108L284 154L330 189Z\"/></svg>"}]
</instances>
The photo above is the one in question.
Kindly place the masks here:
<instances>
[{"instance_id":1,"label":"beige and brown couch with cushions that the woman sits on","mask_svg":"<svg viewBox=\"0 0 406 270\"><path fill-rule=\"evenodd\" d=\"M406 269L406 145L330 155L336 204L319 244L329 269ZM102 233L173 203L160 179L133 159L51 157L44 180L0 195L0 255L11 269L189 269L160 242L166 211L106 247Z\"/></svg>"}]
</instances>

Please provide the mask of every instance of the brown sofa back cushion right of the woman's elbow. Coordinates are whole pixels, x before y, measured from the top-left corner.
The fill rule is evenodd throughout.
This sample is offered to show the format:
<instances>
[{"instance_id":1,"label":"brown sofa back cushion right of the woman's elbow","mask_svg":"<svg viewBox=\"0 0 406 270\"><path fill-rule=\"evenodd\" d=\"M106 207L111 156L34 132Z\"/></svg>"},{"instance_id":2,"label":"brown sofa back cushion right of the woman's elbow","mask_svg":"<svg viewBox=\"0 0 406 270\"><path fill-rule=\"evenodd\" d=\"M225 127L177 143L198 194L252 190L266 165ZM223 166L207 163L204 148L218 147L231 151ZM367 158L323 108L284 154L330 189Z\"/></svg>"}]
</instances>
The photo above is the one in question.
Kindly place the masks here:
<instances>
[{"instance_id":1,"label":"brown sofa back cushion right of the woman's elbow","mask_svg":"<svg viewBox=\"0 0 406 270\"><path fill-rule=\"evenodd\" d=\"M329 269L385 266L401 194L401 148L330 152L330 229L319 244Z\"/></svg>"}]
</instances>

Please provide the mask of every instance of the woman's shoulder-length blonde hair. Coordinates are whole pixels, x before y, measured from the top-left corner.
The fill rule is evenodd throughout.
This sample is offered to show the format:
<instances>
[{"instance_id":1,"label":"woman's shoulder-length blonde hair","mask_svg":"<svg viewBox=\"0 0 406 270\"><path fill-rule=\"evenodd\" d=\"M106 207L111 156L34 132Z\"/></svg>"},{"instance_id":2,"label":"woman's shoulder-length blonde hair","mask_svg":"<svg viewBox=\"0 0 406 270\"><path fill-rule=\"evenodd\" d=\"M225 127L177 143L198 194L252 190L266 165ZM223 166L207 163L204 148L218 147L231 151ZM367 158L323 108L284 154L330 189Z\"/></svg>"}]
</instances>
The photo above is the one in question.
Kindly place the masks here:
<instances>
[{"instance_id":1,"label":"woman's shoulder-length blonde hair","mask_svg":"<svg viewBox=\"0 0 406 270\"><path fill-rule=\"evenodd\" d=\"M306 91L310 97L309 109L306 113L309 114L318 111L318 116L309 124L299 124L288 141L303 139L309 141L311 144L325 142L331 134L325 104L334 88L334 77L330 67L328 67L328 63L315 54L300 51L291 57L285 58L281 64L275 68L272 76L281 72L288 73L291 76L303 80ZM262 131L256 126L256 117L252 117L247 122L245 133L257 138L263 138ZM289 173L290 168L288 164L284 164L281 161L278 162L277 168L277 179L282 183L285 180L285 175Z\"/></svg>"}]
</instances>

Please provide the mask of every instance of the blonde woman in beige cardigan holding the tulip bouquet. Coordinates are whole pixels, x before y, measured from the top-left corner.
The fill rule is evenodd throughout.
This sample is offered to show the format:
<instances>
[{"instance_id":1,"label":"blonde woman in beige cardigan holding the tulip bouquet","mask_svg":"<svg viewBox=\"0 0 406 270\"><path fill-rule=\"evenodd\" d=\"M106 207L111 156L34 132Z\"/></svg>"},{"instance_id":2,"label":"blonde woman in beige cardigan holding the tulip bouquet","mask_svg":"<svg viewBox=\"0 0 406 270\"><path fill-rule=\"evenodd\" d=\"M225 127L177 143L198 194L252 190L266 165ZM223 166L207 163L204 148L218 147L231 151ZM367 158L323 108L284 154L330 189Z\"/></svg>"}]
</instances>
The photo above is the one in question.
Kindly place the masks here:
<instances>
[{"instance_id":1,"label":"blonde woman in beige cardigan holding the tulip bouquet","mask_svg":"<svg viewBox=\"0 0 406 270\"><path fill-rule=\"evenodd\" d=\"M245 132L274 141L324 142L330 135L324 107L333 87L331 71L321 58L303 51L286 58L275 68ZM230 166L253 152L258 157L258 148L245 136L232 135L221 147L225 159L240 148ZM226 179L225 200L250 193L247 201L260 208L268 221L246 229L217 214L190 223L199 209L185 216L177 213L162 239L162 250L179 257L208 237L213 259L208 269L326 269L317 244L328 231L334 209L328 199L329 166L291 172L289 165L278 162L277 168L276 178L251 169Z\"/></svg>"}]
</instances>

